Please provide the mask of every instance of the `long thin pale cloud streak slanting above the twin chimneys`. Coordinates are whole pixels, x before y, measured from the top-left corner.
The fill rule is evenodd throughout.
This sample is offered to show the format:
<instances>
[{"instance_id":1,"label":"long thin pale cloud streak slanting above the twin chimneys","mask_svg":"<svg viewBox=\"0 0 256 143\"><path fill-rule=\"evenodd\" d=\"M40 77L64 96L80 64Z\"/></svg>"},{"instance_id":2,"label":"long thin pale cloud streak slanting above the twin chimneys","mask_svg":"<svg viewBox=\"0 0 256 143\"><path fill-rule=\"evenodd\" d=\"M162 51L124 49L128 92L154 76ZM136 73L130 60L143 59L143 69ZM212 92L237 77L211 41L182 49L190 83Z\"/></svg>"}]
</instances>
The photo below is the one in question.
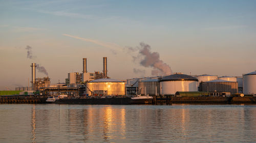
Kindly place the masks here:
<instances>
[{"instance_id":1,"label":"long thin pale cloud streak slanting above the twin chimneys","mask_svg":"<svg viewBox=\"0 0 256 143\"><path fill-rule=\"evenodd\" d=\"M72 35L69 35L69 34L62 34L62 35L72 37L72 38L75 38L75 39L79 39L79 40L82 40L82 41L91 42L91 43L94 43L94 44L97 44L97 45L100 45L100 46L103 46L103 47L106 47L106 48L110 48L114 51L115 50L120 50L120 49L123 48L123 47L121 47L121 46L119 46L115 43L102 42L102 41L93 40L93 39L81 38L81 37L72 36Z\"/></svg>"}]
</instances>

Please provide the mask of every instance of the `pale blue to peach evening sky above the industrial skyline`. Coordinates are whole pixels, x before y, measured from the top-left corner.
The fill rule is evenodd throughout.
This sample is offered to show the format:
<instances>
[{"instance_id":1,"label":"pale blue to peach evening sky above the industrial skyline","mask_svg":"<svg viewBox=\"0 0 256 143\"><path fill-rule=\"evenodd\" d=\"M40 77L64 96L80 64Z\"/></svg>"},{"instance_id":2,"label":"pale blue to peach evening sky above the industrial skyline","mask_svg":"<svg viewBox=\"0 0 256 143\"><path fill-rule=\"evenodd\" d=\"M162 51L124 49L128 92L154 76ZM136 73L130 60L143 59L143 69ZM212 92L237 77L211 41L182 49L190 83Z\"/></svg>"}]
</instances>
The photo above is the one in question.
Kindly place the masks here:
<instances>
[{"instance_id":1,"label":"pale blue to peach evening sky above the industrial skyline","mask_svg":"<svg viewBox=\"0 0 256 143\"><path fill-rule=\"evenodd\" d=\"M108 57L114 79L153 76L141 43L172 73L242 76L256 70L255 7L246 0L0 0L0 90L27 86L31 63L45 67L51 83L65 82L82 72L82 58L89 72L102 72Z\"/></svg>"}]
</instances>

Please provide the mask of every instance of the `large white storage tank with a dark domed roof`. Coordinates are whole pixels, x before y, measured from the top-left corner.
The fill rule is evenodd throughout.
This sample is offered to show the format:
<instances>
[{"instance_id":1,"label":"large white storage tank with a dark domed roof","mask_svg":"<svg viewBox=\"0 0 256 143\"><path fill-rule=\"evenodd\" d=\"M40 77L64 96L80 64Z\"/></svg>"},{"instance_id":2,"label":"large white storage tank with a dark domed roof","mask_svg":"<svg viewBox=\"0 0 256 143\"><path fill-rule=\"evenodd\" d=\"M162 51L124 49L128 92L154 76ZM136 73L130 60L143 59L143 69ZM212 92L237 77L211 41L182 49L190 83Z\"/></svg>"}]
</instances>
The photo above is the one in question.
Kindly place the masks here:
<instances>
[{"instance_id":1,"label":"large white storage tank with a dark domed roof","mask_svg":"<svg viewBox=\"0 0 256 143\"><path fill-rule=\"evenodd\" d=\"M182 73L165 76L160 79L160 94L175 95L176 92L198 91L198 79Z\"/></svg>"}]
</instances>

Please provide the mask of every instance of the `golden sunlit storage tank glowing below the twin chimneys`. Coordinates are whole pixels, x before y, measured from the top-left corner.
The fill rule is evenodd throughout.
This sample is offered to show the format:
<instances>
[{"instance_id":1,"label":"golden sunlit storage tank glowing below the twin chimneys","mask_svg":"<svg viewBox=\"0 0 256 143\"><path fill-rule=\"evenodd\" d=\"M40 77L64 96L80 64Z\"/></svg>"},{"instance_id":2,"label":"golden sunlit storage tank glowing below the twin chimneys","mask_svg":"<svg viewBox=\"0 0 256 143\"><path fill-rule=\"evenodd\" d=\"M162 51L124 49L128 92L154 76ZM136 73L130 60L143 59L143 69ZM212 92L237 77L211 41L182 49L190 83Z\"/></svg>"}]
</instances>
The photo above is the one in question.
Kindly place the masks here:
<instances>
[{"instance_id":1,"label":"golden sunlit storage tank glowing below the twin chimneys","mask_svg":"<svg viewBox=\"0 0 256 143\"><path fill-rule=\"evenodd\" d=\"M116 79L102 78L86 83L87 94L104 92L105 95L125 95L125 82ZM107 92L107 93L105 93Z\"/></svg>"}]
</instances>

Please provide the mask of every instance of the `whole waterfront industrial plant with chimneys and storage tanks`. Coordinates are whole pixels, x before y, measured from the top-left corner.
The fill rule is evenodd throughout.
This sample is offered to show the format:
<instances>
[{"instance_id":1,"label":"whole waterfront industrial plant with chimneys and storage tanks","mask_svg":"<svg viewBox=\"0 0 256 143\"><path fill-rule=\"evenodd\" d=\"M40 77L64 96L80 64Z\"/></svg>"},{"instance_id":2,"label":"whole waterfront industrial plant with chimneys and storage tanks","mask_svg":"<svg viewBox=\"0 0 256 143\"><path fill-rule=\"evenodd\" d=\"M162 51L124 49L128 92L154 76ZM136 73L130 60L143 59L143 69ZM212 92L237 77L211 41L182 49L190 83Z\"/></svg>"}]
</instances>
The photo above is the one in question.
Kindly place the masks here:
<instances>
[{"instance_id":1,"label":"whole waterfront industrial plant with chimneys and storage tanks","mask_svg":"<svg viewBox=\"0 0 256 143\"><path fill-rule=\"evenodd\" d=\"M16 87L15 90L19 92L20 95L44 97L60 95L65 95L65 97L69 98L155 97L153 100L150 99L152 103L157 102L156 97L166 99L166 103L169 103L170 97L256 96L256 71L243 74L241 77L174 73L166 76L117 80L108 76L106 57L103 57L102 72L89 72L87 65L87 58L83 58L81 73L67 73L65 83L58 82L51 84L48 76L36 77L36 67L39 65L32 63L30 66L32 77L31 87ZM225 99L225 101L226 100L229 101L230 99ZM147 99L147 102L148 101ZM86 102L89 103L88 101ZM130 101L127 100L122 102L130 103Z\"/></svg>"}]
</instances>

